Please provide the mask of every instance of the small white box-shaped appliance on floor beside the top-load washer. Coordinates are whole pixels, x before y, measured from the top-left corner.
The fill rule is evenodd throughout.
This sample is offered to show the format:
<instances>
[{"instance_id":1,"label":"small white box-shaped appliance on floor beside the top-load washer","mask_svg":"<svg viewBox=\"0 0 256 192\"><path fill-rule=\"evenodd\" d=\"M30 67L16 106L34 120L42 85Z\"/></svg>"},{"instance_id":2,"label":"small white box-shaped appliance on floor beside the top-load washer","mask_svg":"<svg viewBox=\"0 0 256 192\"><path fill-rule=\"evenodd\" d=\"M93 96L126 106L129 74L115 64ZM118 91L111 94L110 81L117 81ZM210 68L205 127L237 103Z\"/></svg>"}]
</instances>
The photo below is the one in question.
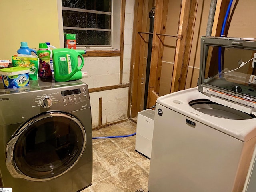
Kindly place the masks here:
<instances>
[{"instance_id":1,"label":"small white box-shaped appliance on floor beside the top-load washer","mask_svg":"<svg viewBox=\"0 0 256 192\"><path fill-rule=\"evenodd\" d=\"M138 112L135 150L151 158L155 111L146 109Z\"/></svg>"}]
</instances>

